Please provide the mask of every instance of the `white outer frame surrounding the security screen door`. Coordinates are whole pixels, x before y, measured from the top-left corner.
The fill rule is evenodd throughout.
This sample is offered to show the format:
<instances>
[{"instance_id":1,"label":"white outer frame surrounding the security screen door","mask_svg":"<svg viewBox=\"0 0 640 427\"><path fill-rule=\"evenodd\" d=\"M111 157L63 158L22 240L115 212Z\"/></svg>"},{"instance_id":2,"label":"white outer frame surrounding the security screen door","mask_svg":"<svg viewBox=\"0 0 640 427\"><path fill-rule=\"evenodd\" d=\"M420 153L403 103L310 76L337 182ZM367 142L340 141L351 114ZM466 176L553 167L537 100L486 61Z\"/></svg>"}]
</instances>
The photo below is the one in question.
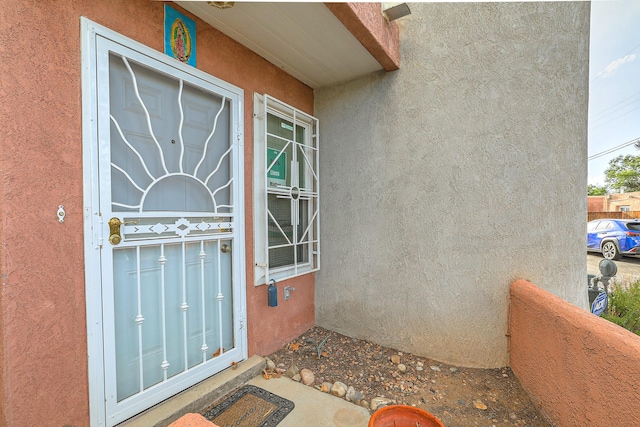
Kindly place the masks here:
<instances>
[{"instance_id":1,"label":"white outer frame surrounding the security screen door","mask_svg":"<svg viewBox=\"0 0 640 427\"><path fill-rule=\"evenodd\" d=\"M103 341L103 313L101 291L101 246L102 234L107 219L100 215L99 204L99 174L98 174L98 109L109 108L108 105L98 106L97 82L98 74L96 61L98 38L108 39L130 49L143 53L152 59L169 64L182 72L198 79L205 80L225 91L237 94L236 144L238 155L234 165L234 179L240 182L234 191L234 214L236 215L236 244L234 245L234 273L239 286L239 313L234 313L241 325L241 333L236 337L236 345L241 348L243 359L247 358L246 334L246 268L244 247L244 140L243 90L212 77L196 68L185 65L177 60L155 51L143 44L124 37L106 27L96 24L86 18L81 18L81 50L82 50L82 133L83 133L83 193L84 193L84 242L85 242L85 290L87 314L87 351L88 351L88 384L89 384L89 412L91 426L106 426L105 410L105 363ZM141 411L146 408L141 408Z\"/></svg>"}]
</instances>

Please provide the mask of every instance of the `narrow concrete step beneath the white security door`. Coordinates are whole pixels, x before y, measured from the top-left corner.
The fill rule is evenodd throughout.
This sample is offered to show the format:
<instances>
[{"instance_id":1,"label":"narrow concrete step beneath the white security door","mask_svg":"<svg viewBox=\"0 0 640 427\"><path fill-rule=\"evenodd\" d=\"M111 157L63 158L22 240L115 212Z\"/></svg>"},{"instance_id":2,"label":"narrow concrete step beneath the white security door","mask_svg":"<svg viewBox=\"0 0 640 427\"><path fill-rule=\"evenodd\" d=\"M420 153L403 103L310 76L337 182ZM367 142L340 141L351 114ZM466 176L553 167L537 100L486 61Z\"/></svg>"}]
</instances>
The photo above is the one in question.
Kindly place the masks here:
<instances>
[{"instance_id":1,"label":"narrow concrete step beneath the white security door","mask_svg":"<svg viewBox=\"0 0 640 427\"><path fill-rule=\"evenodd\" d=\"M252 356L236 365L236 369L225 369L134 418L118 424L118 427L166 427L187 413L201 412L207 406L260 375L264 367L265 360L262 357Z\"/></svg>"}]
</instances>

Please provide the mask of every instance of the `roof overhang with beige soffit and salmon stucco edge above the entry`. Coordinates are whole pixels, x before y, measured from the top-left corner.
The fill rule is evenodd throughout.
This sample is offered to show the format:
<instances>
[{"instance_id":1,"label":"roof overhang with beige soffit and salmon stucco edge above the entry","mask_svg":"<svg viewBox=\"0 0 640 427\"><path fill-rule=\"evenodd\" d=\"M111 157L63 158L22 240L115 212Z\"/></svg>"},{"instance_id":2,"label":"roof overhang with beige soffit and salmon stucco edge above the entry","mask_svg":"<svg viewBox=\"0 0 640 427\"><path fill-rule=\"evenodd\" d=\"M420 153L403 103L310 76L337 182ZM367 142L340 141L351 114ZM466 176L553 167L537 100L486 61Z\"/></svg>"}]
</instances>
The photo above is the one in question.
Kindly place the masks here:
<instances>
[{"instance_id":1,"label":"roof overhang with beige soffit and salmon stucco edge above the entry","mask_svg":"<svg viewBox=\"0 0 640 427\"><path fill-rule=\"evenodd\" d=\"M399 65L380 3L174 3L314 89Z\"/></svg>"}]
</instances>

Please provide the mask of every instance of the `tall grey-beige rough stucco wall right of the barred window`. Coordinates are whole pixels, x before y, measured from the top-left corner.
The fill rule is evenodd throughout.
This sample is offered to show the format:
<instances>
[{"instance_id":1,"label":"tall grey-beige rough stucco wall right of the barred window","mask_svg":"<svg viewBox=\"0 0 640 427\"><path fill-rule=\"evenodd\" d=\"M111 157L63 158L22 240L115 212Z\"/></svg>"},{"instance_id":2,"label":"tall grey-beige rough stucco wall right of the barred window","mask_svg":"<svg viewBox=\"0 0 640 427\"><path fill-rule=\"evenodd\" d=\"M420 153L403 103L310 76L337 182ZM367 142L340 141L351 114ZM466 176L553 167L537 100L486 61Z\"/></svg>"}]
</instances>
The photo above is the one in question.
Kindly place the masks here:
<instances>
[{"instance_id":1,"label":"tall grey-beige rough stucco wall right of the barred window","mask_svg":"<svg viewBox=\"0 0 640 427\"><path fill-rule=\"evenodd\" d=\"M587 306L589 4L411 3L402 65L316 91L316 322L508 364L508 290Z\"/></svg>"}]
</instances>

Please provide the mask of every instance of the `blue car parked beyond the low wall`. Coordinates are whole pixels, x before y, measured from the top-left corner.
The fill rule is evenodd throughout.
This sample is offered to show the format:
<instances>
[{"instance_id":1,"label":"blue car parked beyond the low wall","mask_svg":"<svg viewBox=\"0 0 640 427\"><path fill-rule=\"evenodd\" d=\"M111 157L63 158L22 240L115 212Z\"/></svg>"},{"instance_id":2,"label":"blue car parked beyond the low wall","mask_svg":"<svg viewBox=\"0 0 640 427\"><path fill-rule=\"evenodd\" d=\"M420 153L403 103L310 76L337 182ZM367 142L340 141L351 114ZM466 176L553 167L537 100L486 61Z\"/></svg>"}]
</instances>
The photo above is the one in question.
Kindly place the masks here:
<instances>
[{"instance_id":1,"label":"blue car parked beyond the low wall","mask_svg":"<svg viewBox=\"0 0 640 427\"><path fill-rule=\"evenodd\" d=\"M640 255L640 220L596 219L587 224L587 251L606 259Z\"/></svg>"}]
</instances>

